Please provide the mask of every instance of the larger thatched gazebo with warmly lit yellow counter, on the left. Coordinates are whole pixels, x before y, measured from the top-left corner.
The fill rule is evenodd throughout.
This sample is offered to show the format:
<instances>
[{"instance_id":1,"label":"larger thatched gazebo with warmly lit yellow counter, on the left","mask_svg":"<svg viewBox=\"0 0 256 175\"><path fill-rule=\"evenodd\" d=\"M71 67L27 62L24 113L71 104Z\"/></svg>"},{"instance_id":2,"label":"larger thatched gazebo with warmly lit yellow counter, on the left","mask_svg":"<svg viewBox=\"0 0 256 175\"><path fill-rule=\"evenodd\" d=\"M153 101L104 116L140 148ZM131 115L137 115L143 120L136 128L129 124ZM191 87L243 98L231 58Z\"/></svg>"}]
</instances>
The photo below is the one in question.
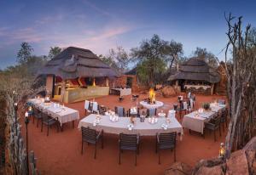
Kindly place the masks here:
<instances>
[{"instance_id":1,"label":"larger thatched gazebo with warmly lit yellow counter, on the left","mask_svg":"<svg viewBox=\"0 0 256 175\"><path fill-rule=\"evenodd\" d=\"M90 50L75 47L64 49L38 74L47 75L47 93L67 103L108 95L108 78L119 76Z\"/></svg>"}]
</instances>

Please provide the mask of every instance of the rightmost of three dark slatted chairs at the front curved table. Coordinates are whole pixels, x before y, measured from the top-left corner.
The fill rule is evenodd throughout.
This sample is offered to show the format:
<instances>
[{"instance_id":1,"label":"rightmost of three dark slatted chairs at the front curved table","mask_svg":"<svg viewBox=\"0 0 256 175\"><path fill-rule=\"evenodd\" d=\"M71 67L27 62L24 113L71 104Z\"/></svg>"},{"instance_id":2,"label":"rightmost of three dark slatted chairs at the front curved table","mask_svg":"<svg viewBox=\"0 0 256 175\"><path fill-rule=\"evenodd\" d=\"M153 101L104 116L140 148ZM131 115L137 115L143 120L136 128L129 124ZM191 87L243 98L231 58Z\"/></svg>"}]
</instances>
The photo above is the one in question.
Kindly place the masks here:
<instances>
[{"instance_id":1,"label":"rightmost of three dark slatted chairs at the front curved table","mask_svg":"<svg viewBox=\"0 0 256 175\"><path fill-rule=\"evenodd\" d=\"M177 133L160 133L156 134L156 153L158 152L160 164L160 150L174 150L174 161L176 161L176 137Z\"/></svg>"}]
</instances>

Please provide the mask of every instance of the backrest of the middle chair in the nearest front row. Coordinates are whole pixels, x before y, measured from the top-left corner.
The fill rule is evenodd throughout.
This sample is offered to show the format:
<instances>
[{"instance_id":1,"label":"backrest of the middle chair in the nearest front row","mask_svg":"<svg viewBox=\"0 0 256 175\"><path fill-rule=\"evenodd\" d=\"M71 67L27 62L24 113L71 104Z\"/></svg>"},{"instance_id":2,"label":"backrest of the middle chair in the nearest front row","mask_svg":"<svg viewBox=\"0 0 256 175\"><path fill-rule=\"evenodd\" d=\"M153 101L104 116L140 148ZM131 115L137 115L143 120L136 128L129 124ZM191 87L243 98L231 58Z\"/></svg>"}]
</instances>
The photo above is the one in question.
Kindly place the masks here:
<instances>
[{"instance_id":1,"label":"backrest of the middle chair in the nearest front row","mask_svg":"<svg viewBox=\"0 0 256 175\"><path fill-rule=\"evenodd\" d=\"M138 135L137 134L119 134L119 146L129 148L137 148Z\"/></svg>"}]
</instances>

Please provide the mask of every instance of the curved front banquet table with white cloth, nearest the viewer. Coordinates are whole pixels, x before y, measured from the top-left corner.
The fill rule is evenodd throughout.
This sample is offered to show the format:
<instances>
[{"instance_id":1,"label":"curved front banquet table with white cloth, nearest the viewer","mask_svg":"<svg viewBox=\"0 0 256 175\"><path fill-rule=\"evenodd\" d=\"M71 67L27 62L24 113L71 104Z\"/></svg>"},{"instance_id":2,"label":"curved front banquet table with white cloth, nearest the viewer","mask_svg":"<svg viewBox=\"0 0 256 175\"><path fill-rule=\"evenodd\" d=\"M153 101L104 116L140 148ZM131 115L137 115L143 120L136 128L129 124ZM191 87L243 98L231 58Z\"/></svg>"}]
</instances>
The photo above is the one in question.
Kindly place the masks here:
<instances>
[{"instance_id":1,"label":"curved front banquet table with white cloth, nearest the viewer","mask_svg":"<svg viewBox=\"0 0 256 175\"><path fill-rule=\"evenodd\" d=\"M155 136L156 133L169 133L177 132L183 135L183 127L177 121L175 117L170 117L171 122L168 124L167 129L163 129L161 125L166 124L165 118L159 118L158 121L154 124L148 122L148 118L144 122L141 122L139 118L136 118L134 127L132 130L128 130L128 125L130 123L130 117L119 117L119 121L110 121L109 116L101 116L101 121L96 126L93 126L94 121L96 120L95 114L90 114L89 116L84 117L79 121L79 129L81 127L91 127L95 128L98 131L103 130L104 133L138 133L141 136Z\"/></svg>"}]
</instances>

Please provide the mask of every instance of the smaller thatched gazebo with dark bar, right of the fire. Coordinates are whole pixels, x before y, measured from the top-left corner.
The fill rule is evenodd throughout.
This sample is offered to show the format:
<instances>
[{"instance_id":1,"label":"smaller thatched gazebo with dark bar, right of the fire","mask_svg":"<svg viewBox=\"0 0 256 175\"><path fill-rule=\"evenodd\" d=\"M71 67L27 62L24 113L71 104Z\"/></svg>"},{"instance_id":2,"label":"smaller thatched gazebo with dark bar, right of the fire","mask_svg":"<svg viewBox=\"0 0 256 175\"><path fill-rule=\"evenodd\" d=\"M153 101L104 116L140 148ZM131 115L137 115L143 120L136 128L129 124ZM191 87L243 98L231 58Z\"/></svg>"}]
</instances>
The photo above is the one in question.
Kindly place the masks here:
<instances>
[{"instance_id":1,"label":"smaller thatched gazebo with dark bar, right of the fire","mask_svg":"<svg viewBox=\"0 0 256 175\"><path fill-rule=\"evenodd\" d=\"M220 76L204 60L191 58L180 65L177 73L169 76L168 81L176 81L181 91L212 94L214 84L220 81Z\"/></svg>"}]
</instances>

